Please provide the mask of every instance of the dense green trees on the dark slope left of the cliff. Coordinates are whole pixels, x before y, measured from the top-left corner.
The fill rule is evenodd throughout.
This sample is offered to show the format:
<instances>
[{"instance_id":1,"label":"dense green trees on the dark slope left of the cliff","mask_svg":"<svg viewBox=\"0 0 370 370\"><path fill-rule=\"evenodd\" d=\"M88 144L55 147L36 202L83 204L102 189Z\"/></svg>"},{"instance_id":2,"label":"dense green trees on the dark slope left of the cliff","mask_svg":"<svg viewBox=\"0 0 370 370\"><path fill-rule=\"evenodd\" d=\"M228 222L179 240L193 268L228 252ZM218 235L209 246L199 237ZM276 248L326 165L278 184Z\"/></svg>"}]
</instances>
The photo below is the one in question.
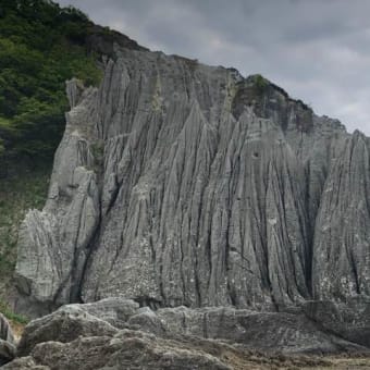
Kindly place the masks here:
<instances>
[{"instance_id":1,"label":"dense green trees on the dark slope left of the cliff","mask_svg":"<svg viewBox=\"0 0 370 370\"><path fill-rule=\"evenodd\" d=\"M97 85L94 24L48 0L0 3L0 156L51 158L64 130L65 81Z\"/></svg>"}]
</instances>

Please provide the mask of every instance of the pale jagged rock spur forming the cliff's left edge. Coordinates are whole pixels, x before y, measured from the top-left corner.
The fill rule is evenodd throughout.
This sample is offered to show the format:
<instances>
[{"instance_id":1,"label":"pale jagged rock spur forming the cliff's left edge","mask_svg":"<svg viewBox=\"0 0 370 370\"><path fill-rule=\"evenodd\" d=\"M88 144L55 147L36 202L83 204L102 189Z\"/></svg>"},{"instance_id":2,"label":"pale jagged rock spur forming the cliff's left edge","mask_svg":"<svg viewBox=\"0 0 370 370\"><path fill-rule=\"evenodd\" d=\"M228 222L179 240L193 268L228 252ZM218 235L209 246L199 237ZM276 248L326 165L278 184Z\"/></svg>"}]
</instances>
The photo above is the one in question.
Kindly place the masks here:
<instances>
[{"instance_id":1,"label":"pale jagged rock spur forming the cliff's left edge","mask_svg":"<svg viewBox=\"0 0 370 370\"><path fill-rule=\"evenodd\" d=\"M85 90L67 114L70 128L55 155L47 206L42 212L29 211L21 225L15 282L30 298L21 297L17 305L29 316L75 300L79 292L87 246L100 218L91 145L81 136L90 134L95 95L94 89Z\"/></svg>"}]
</instances>

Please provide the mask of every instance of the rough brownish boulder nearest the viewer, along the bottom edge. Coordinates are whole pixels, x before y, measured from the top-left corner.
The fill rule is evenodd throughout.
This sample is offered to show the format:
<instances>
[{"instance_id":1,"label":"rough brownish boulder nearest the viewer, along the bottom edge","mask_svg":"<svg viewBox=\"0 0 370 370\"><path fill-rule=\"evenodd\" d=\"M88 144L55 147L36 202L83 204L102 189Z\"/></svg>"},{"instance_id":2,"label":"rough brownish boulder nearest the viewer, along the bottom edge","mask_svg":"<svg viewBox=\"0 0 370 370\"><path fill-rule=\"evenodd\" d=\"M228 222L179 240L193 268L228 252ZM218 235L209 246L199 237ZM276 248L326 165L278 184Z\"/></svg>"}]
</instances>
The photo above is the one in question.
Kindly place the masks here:
<instances>
[{"instance_id":1,"label":"rough brownish boulder nearest the viewer, along the bottom edge","mask_svg":"<svg viewBox=\"0 0 370 370\"><path fill-rule=\"evenodd\" d=\"M181 343L158 340L137 331L122 331L112 337L81 337L69 344L48 342L38 345L37 363L64 369L218 369L226 370L215 357L188 350Z\"/></svg>"}]
</instances>

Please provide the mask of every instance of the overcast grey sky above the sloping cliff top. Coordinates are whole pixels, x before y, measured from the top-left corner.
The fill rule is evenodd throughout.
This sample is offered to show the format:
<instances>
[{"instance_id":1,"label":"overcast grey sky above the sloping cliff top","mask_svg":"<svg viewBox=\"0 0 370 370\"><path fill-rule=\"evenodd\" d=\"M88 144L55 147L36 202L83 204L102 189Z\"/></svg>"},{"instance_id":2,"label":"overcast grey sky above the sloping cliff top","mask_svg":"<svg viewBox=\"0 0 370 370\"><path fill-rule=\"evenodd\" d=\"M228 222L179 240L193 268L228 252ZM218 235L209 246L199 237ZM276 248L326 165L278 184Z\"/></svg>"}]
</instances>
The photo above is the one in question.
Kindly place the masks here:
<instances>
[{"instance_id":1,"label":"overcast grey sky above the sloping cliff top","mask_svg":"<svg viewBox=\"0 0 370 370\"><path fill-rule=\"evenodd\" d=\"M151 50L260 73L370 135L370 0L59 0Z\"/></svg>"}]
</instances>

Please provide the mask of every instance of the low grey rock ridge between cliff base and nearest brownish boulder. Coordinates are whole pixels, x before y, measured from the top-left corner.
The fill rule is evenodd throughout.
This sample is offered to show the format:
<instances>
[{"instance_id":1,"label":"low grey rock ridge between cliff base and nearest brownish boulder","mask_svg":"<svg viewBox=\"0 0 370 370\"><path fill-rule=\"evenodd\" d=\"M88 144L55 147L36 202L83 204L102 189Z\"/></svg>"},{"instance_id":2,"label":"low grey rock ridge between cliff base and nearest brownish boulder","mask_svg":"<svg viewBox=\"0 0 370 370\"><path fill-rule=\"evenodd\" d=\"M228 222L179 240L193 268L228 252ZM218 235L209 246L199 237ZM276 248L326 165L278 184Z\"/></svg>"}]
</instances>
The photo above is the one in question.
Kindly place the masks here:
<instances>
[{"instance_id":1,"label":"low grey rock ridge between cliff base and nearest brownish boulder","mask_svg":"<svg viewBox=\"0 0 370 370\"><path fill-rule=\"evenodd\" d=\"M330 312L335 311L332 309ZM323 330L303 313L256 312L231 307L176 307L152 311L148 307L139 308L133 300L109 298L94 304L63 306L51 314L32 321L25 328L17 346L17 356L30 355L40 343L70 343L79 336L112 337L125 329L146 332L164 340L184 336L221 340L266 353L367 351L365 346L368 343L359 343L360 331L357 332L357 337L351 330L347 333L337 332L335 335L328 333L329 325L330 321L328 330ZM369 332L361 333L369 341ZM356 341L358 338L359 342Z\"/></svg>"}]
</instances>

